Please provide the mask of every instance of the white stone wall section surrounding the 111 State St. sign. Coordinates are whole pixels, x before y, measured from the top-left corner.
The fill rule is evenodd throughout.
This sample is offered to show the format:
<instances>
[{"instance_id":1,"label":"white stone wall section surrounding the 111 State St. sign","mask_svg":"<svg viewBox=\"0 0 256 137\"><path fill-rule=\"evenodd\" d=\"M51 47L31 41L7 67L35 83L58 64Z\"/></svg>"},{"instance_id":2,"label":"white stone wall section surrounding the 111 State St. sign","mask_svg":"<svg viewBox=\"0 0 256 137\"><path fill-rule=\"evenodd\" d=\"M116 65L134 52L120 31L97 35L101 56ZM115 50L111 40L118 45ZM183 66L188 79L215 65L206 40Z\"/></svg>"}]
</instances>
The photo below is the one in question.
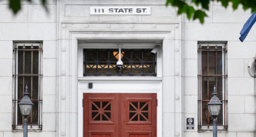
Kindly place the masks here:
<instances>
[{"instance_id":1,"label":"white stone wall section surrounding the 111 State St. sign","mask_svg":"<svg viewBox=\"0 0 256 137\"><path fill-rule=\"evenodd\" d=\"M165 0L62 0L59 1L60 22L180 22L176 8L165 6ZM89 7L109 5L151 7L151 15L89 15Z\"/></svg>"}]
</instances>

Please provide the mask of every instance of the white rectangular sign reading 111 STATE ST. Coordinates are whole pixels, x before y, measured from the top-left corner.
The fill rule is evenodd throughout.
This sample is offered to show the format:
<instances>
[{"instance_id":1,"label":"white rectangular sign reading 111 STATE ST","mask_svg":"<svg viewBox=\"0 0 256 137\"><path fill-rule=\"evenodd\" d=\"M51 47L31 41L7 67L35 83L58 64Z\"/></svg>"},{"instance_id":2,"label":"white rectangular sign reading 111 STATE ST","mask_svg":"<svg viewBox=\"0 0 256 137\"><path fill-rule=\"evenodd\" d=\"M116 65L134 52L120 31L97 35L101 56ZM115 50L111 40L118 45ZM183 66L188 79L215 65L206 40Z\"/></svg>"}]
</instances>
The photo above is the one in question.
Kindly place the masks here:
<instances>
[{"instance_id":1,"label":"white rectangular sign reading 111 STATE ST","mask_svg":"<svg viewBox=\"0 0 256 137\"><path fill-rule=\"evenodd\" d=\"M89 15L151 15L151 7L90 7Z\"/></svg>"}]
</instances>

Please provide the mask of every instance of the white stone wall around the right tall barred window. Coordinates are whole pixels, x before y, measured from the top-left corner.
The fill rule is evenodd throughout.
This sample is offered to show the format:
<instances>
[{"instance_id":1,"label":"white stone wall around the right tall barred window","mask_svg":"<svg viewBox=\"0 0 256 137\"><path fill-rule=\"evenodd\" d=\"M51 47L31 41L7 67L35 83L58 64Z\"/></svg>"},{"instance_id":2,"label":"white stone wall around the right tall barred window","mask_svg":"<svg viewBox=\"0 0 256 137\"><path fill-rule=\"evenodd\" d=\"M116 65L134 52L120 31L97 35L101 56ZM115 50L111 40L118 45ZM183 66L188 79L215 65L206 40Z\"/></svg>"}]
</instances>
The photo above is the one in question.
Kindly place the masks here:
<instances>
[{"instance_id":1,"label":"white stone wall around the right tall barred window","mask_svg":"<svg viewBox=\"0 0 256 137\"><path fill-rule=\"evenodd\" d=\"M244 42L240 32L251 16L240 6L233 11L231 5L223 8L212 3L204 25L184 18L184 119L195 118L195 130L184 136L212 136L212 132L197 132L197 41L227 41L227 132L219 137L251 137L255 132L255 82L248 74L248 61L256 54L255 26Z\"/></svg>"}]
</instances>

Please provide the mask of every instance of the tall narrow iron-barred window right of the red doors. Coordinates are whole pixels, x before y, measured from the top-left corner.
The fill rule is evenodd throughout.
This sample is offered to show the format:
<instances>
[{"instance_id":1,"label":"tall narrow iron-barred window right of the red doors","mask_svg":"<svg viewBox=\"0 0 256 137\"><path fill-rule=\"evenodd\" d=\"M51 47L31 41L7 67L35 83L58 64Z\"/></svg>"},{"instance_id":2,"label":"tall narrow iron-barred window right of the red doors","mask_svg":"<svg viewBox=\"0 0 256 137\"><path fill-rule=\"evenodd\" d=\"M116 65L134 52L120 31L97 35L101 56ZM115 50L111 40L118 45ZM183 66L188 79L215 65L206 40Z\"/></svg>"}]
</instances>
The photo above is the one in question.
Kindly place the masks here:
<instances>
[{"instance_id":1,"label":"tall narrow iron-barred window right of the red doors","mask_svg":"<svg viewBox=\"0 0 256 137\"><path fill-rule=\"evenodd\" d=\"M200 44L199 90L198 90L198 129L212 129L213 118L207 108L216 86L217 97L223 103L220 115L217 116L217 129L227 129L227 69L225 44Z\"/></svg>"}]
</instances>

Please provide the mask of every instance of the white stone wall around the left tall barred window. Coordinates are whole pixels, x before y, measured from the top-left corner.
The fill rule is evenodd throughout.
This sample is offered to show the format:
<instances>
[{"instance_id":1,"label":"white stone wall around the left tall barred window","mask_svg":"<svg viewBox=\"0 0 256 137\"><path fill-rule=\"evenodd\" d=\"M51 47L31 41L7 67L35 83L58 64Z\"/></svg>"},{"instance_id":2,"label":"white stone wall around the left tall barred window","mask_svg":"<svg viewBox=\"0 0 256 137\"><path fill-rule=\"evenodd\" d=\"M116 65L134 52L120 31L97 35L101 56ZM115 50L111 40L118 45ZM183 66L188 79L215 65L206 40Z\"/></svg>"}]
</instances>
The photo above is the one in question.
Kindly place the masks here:
<instances>
[{"instance_id":1,"label":"white stone wall around the left tall barred window","mask_svg":"<svg viewBox=\"0 0 256 137\"><path fill-rule=\"evenodd\" d=\"M23 136L12 132L13 41L43 41L42 132L30 137L56 136L56 47L57 2L50 0L46 14L39 0L22 2L22 11L13 15L7 1L0 1L0 136Z\"/></svg>"}]
</instances>

